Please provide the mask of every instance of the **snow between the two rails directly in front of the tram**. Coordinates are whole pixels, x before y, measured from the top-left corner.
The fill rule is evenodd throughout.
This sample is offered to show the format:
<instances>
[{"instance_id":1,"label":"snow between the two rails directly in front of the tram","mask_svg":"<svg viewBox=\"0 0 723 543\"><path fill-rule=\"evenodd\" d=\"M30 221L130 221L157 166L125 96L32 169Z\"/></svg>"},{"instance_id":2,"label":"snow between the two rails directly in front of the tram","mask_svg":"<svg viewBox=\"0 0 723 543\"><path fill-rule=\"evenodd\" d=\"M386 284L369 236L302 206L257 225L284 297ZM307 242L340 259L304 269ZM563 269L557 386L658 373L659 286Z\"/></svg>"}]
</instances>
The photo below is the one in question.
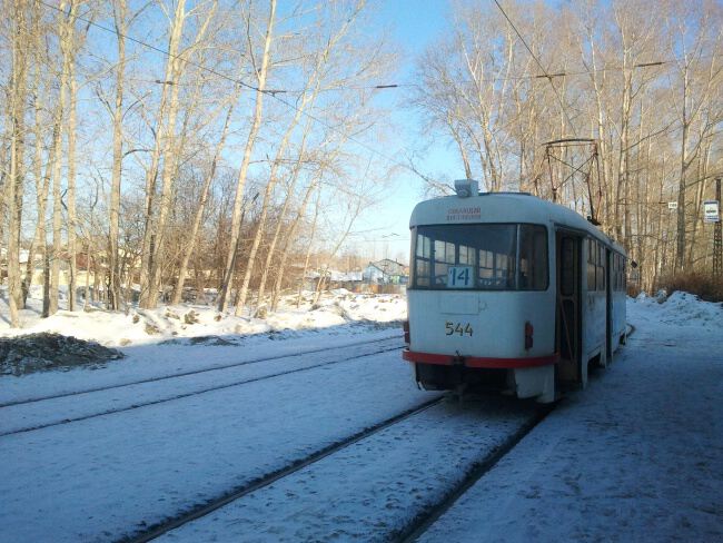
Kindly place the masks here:
<instances>
[{"instance_id":1,"label":"snow between the two rails directly in front of the tram","mask_svg":"<svg viewBox=\"0 0 723 543\"><path fill-rule=\"evenodd\" d=\"M504 396L446 395L159 541L404 541L545 412Z\"/></svg>"}]
</instances>

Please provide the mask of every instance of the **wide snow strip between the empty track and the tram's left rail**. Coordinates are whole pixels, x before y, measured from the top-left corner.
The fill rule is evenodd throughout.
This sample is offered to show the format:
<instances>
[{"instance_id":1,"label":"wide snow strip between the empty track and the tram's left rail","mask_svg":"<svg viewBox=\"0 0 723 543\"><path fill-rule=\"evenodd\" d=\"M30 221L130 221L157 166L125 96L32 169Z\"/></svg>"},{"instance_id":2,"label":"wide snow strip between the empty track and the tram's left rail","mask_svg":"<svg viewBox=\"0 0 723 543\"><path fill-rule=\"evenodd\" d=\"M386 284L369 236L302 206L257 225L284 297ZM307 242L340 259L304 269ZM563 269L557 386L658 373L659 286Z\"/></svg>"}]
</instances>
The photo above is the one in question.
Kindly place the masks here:
<instances>
[{"instance_id":1,"label":"wide snow strip between the empty track and the tram's left rail","mask_svg":"<svg viewBox=\"0 0 723 543\"><path fill-rule=\"evenodd\" d=\"M0 541L117 540L427 401L408 377L397 351L0 437Z\"/></svg>"}]
</instances>

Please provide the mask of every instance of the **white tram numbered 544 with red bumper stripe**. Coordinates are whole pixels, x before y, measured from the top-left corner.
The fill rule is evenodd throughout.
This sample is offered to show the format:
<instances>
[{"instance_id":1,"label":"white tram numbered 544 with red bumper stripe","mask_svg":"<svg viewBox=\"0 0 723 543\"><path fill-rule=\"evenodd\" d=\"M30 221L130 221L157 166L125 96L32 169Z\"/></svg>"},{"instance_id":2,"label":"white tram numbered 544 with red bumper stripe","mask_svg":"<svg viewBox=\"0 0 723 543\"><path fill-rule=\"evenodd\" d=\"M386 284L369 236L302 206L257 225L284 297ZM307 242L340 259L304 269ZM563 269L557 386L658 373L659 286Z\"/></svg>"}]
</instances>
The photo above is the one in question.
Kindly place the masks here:
<instances>
[{"instance_id":1,"label":"white tram numbered 544 with red bumper stripe","mask_svg":"<svg viewBox=\"0 0 723 543\"><path fill-rule=\"evenodd\" d=\"M555 399L625 340L625 253L575 211L519 192L457 196L413 214L407 348L426 389Z\"/></svg>"}]
</instances>

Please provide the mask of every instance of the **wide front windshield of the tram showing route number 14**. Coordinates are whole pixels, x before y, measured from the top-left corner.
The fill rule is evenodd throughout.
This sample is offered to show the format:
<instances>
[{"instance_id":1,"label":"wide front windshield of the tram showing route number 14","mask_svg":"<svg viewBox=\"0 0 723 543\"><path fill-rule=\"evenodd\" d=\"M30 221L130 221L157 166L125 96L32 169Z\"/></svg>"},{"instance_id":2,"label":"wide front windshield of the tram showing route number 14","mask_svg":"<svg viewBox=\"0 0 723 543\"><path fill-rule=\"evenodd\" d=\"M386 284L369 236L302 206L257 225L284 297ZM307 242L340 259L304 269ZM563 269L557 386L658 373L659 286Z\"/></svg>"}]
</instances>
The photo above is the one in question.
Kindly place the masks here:
<instances>
[{"instance_id":1,"label":"wide front windshield of the tram showing route number 14","mask_svg":"<svg viewBox=\"0 0 723 543\"><path fill-rule=\"evenodd\" d=\"M548 285L544 226L418 226L412 254L412 288L546 290Z\"/></svg>"}]
</instances>

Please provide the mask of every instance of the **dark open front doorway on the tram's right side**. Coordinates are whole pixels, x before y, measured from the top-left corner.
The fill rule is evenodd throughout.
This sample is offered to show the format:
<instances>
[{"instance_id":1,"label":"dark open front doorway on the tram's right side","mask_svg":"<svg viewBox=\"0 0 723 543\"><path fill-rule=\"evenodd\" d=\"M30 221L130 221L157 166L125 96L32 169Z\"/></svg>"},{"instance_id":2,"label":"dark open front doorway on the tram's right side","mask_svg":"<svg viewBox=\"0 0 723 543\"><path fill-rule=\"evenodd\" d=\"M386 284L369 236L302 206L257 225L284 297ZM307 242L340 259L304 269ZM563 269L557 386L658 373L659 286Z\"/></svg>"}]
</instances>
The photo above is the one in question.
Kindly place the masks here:
<instances>
[{"instance_id":1,"label":"dark open front doorway on the tram's right side","mask_svg":"<svg viewBox=\"0 0 723 543\"><path fill-rule=\"evenodd\" d=\"M557 231L557 302L555 347L559 353L557 378L561 383L581 383L581 237Z\"/></svg>"}]
</instances>

